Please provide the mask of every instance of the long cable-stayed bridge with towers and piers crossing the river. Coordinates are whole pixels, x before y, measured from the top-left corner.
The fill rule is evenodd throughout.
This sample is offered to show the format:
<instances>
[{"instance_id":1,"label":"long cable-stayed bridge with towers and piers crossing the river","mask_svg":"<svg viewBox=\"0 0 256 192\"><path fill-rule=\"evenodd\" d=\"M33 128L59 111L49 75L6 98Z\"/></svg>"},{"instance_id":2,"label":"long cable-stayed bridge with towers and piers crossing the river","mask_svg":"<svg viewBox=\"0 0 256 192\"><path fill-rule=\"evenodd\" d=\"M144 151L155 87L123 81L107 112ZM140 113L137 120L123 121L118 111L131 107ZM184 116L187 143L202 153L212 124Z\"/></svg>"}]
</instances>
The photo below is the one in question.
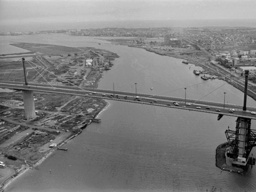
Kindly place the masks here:
<instances>
[{"instance_id":1,"label":"long cable-stayed bridge with towers and piers crossing the river","mask_svg":"<svg viewBox=\"0 0 256 192\"><path fill-rule=\"evenodd\" d=\"M91 98L102 98L106 100L116 100L121 102L130 102L137 104L155 105L160 107L169 107L174 109L182 109L189 111L198 111L203 113L217 114L217 120L220 120L223 115L237 117L236 130L226 130L226 138L228 140L230 148L230 157L233 159L232 164L235 166L245 167L248 164L255 164L252 157L249 157L250 151L256 146L256 130L250 128L251 120L256 120L256 108L247 107L247 84L249 71L245 71L245 90L244 90L244 102L243 106L231 105L225 103L199 101L185 98L176 98L160 95L150 95L132 92L121 92L114 90L103 90L103 89L91 89L87 87L78 87L70 83L73 86L56 86L56 85L45 85L39 83L30 83L26 80L26 68L24 65L25 59L22 58L24 79L23 82L13 81L0 81L0 87L22 90L24 100L24 112L27 119L34 118L35 115L35 104L33 100L33 91L37 92L48 92L55 94L69 94L76 96L84 96ZM38 66L38 65L37 65ZM41 68L41 66L38 66ZM45 70L45 69L44 69ZM49 72L48 70L45 70ZM51 72L49 72L51 73ZM41 75L41 74L40 74Z\"/></svg>"}]
</instances>

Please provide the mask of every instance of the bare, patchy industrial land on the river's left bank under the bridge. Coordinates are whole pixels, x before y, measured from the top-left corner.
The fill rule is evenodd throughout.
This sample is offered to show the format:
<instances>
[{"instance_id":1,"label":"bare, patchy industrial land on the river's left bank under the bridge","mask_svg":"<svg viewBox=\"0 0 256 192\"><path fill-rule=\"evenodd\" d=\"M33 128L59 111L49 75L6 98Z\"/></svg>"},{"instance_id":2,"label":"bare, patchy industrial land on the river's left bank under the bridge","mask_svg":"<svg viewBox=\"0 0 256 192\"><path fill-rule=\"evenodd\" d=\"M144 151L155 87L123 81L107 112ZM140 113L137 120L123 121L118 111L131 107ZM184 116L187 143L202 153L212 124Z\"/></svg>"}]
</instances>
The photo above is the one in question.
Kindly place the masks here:
<instances>
[{"instance_id":1,"label":"bare, patchy industrial land on the river's left bank under the bridge","mask_svg":"<svg viewBox=\"0 0 256 192\"><path fill-rule=\"evenodd\" d=\"M55 86L72 84L96 88L102 71L108 70L113 65L111 61L119 57L95 48L31 43L13 45L32 51L33 55L24 56L28 82ZM20 57L19 54L17 57L11 55L9 59L0 57L0 80L24 81ZM88 65L86 59L92 62ZM15 176L26 170L28 164L34 166L41 162L52 151L50 144L61 144L78 133L79 127L89 123L92 116L107 105L101 99L34 92L36 117L26 120L21 92L0 93L0 97L0 122L4 123L0 125L0 128L4 127L0 133L0 152L3 153L0 161L7 166L0 174L0 183L8 175ZM8 155L17 160L8 159Z\"/></svg>"}]
</instances>

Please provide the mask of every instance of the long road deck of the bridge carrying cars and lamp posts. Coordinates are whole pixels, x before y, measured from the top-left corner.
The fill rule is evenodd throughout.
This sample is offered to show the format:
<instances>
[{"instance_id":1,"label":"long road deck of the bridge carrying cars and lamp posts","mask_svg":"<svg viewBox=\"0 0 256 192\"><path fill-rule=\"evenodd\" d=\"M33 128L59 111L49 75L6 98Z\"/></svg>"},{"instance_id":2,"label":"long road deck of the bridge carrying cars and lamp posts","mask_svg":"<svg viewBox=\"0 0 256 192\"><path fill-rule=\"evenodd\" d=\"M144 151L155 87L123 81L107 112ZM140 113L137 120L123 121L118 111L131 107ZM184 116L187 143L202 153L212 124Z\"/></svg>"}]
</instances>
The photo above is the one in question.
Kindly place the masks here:
<instances>
[{"instance_id":1,"label":"long road deck of the bridge carrying cars and lamp posts","mask_svg":"<svg viewBox=\"0 0 256 192\"><path fill-rule=\"evenodd\" d=\"M9 89L18 89L18 90L33 90L33 91L39 91L39 92L103 98L107 100L119 100L122 102L156 105L161 107L171 107L171 108L184 109L189 111L200 111L204 113L223 114L228 116L256 119L256 115L251 114L251 111L256 111L255 107L247 107L247 111L243 111L242 106L225 104L225 109L223 109L224 103L215 103L215 102L186 99L186 103L190 103L190 105L186 105L184 98L175 98L175 97L167 97L167 96L159 96L159 95L154 96L149 94L137 93L138 99L135 99L135 93L131 93L131 92L115 91L115 96L114 96L113 90L100 90L100 89L91 89L91 88L82 88L83 89L82 90L81 88L71 87L71 86L58 86L53 88L50 85L45 85L45 84L30 84L28 86L25 86L23 85L22 82L0 83L0 87L9 88ZM95 93L93 93L93 90L95 91ZM174 104L174 102L178 103L178 105ZM231 112L230 109L234 109L234 111Z\"/></svg>"}]
</instances>

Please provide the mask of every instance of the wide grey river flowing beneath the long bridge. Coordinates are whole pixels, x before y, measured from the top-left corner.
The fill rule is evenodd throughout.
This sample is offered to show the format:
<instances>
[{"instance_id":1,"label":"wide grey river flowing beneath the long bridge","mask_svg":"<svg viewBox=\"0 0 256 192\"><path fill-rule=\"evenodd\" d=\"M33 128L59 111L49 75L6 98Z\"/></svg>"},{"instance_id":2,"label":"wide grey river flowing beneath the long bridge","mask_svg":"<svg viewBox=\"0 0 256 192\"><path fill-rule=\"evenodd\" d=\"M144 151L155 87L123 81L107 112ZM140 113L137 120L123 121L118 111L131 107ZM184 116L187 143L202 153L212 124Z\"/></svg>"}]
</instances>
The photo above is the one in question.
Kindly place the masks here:
<instances>
[{"instance_id":1,"label":"wide grey river flowing beneath the long bridge","mask_svg":"<svg viewBox=\"0 0 256 192\"><path fill-rule=\"evenodd\" d=\"M97 37L101 38L102 37ZM224 81L203 81L195 66L182 59L139 48L113 45L93 37L63 34L0 37L10 53L10 41L89 46L117 53L111 70L104 72L99 89L125 90L243 105L243 92ZM100 42L100 45L98 44ZM1 48L2 54L7 53ZM20 50L22 51L22 50ZM23 50L25 51L25 50ZM13 52L17 52L14 48ZM150 90L153 87L153 90ZM215 90L215 91L213 91ZM108 101L109 102L109 101ZM250 106L256 102L247 98ZM7 192L69 191L216 191L256 190L256 170L243 175L221 172L215 149L226 142L224 131L236 118L180 109L110 101L100 113L101 124L91 124L65 147L7 186ZM252 129L256 123L252 120ZM254 148L252 153L256 154ZM51 169L51 172L49 172Z\"/></svg>"}]
</instances>

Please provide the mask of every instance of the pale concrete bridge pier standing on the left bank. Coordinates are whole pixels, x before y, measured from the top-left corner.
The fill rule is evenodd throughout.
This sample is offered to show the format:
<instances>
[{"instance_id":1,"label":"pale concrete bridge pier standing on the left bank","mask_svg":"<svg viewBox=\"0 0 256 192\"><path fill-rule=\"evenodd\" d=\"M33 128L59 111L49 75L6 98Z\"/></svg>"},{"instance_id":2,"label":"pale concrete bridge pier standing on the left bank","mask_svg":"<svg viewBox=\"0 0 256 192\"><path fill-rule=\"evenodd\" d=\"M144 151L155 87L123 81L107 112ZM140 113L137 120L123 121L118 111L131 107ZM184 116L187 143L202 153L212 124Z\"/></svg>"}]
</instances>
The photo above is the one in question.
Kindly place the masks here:
<instances>
[{"instance_id":1,"label":"pale concrete bridge pier standing on the left bank","mask_svg":"<svg viewBox=\"0 0 256 192\"><path fill-rule=\"evenodd\" d=\"M35 117L35 103L32 90L22 90L26 119Z\"/></svg>"}]
</instances>

